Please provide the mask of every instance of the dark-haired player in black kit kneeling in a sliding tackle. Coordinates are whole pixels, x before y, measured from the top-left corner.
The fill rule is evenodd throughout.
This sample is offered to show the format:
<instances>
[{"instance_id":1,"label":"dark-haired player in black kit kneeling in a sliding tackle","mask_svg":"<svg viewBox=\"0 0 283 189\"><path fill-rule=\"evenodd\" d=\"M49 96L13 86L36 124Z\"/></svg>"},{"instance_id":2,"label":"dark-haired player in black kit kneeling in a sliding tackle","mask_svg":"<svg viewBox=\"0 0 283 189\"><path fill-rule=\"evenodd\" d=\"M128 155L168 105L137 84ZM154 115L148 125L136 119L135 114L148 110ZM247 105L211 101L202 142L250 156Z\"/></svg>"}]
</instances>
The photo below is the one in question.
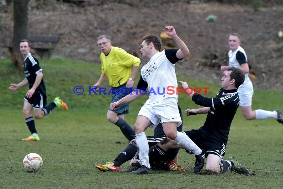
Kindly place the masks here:
<instances>
[{"instance_id":1,"label":"dark-haired player in black kit kneeling in a sliding tackle","mask_svg":"<svg viewBox=\"0 0 283 189\"><path fill-rule=\"evenodd\" d=\"M237 88L244 82L244 79L244 73L240 69L229 68L222 77L222 88L214 98L195 94L186 82L179 82L186 90L186 93L189 94L189 97L196 104L203 106L199 109L187 109L186 115L207 114L202 127L184 131L205 153L207 171L218 174L232 170L240 174L249 174L249 170L234 158L223 160L231 123L240 103ZM160 145L167 150L181 148L180 145L168 137Z\"/></svg>"}]
</instances>

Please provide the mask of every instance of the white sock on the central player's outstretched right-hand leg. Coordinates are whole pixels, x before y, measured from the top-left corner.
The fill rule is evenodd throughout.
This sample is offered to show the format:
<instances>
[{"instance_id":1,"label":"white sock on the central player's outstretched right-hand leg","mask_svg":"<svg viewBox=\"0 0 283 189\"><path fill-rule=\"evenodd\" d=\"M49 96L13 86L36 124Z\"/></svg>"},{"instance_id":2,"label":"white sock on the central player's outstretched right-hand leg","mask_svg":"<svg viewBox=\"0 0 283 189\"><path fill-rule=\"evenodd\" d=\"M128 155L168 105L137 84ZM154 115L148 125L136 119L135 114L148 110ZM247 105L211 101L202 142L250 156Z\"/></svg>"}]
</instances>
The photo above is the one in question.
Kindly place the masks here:
<instances>
[{"instance_id":1,"label":"white sock on the central player's outstretched right-hand leg","mask_svg":"<svg viewBox=\"0 0 283 189\"><path fill-rule=\"evenodd\" d=\"M177 132L177 137L174 141L187 151L192 151L195 155L202 153L202 150L185 133Z\"/></svg>"}]
</instances>

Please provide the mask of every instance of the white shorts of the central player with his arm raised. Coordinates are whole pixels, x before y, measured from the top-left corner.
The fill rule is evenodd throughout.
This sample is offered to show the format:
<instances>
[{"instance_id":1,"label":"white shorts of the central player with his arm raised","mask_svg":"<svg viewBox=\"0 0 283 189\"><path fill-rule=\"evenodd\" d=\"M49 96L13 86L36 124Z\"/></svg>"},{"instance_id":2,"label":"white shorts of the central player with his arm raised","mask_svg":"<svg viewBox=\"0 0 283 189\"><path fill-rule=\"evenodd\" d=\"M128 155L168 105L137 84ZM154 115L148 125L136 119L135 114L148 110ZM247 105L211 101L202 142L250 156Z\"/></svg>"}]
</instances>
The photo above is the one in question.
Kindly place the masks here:
<instances>
[{"instance_id":1,"label":"white shorts of the central player with his arm raised","mask_svg":"<svg viewBox=\"0 0 283 189\"><path fill-rule=\"evenodd\" d=\"M177 127L182 124L177 99L169 97L154 104L144 104L138 115L147 117L151 122L150 128L154 129L158 123L178 122Z\"/></svg>"}]
</instances>

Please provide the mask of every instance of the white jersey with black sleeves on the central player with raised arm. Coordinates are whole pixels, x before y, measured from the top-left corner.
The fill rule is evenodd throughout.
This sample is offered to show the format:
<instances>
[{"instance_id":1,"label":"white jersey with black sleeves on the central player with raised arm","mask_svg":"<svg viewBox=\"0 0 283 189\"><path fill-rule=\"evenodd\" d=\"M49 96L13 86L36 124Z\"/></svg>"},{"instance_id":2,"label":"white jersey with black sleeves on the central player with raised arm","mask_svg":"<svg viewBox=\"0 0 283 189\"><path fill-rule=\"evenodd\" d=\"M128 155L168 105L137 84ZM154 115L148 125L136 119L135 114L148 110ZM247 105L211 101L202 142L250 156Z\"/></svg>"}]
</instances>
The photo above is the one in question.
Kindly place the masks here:
<instances>
[{"instance_id":1,"label":"white jersey with black sleeves on the central player with raised arm","mask_svg":"<svg viewBox=\"0 0 283 189\"><path fill-rule=\"evenodd\" d=\"M167 52L173 51L167 50ZM172 60L177 62L180 59L176 57L176 51L174 52L168 53L167 56L170 56ZM171 63L168 58L166 57L165 50L163 50L153 55L141 69L141 77L148 84L149 99L146 101L146 104L160 102L168 97L174 97L178 100L176 93L176 88L178 87L175 73L176 62Z\"/></svg>"}]
</instances>

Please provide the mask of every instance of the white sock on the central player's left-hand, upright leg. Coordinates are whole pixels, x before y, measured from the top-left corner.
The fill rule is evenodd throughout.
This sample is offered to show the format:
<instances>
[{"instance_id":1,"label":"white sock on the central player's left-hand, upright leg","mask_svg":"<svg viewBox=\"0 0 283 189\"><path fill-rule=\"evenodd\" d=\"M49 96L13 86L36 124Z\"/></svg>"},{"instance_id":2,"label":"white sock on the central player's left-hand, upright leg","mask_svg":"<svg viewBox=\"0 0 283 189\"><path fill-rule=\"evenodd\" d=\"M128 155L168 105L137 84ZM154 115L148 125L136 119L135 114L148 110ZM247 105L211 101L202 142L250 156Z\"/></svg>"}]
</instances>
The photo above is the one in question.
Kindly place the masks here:
<instances>
[{"instance_id":1,"label":"white sock on the central player's left-hand, upright leg","mask_svg":"<svg viewBox=\"0 0 283 189\"><path fill-rule=\"evenodd\" d=\"M141 164L150 168L149 156L148 156L149 146L145 132L136 134L136 142L139 149L139 159L141 161Z\"/></svg>"}]
</instances>

